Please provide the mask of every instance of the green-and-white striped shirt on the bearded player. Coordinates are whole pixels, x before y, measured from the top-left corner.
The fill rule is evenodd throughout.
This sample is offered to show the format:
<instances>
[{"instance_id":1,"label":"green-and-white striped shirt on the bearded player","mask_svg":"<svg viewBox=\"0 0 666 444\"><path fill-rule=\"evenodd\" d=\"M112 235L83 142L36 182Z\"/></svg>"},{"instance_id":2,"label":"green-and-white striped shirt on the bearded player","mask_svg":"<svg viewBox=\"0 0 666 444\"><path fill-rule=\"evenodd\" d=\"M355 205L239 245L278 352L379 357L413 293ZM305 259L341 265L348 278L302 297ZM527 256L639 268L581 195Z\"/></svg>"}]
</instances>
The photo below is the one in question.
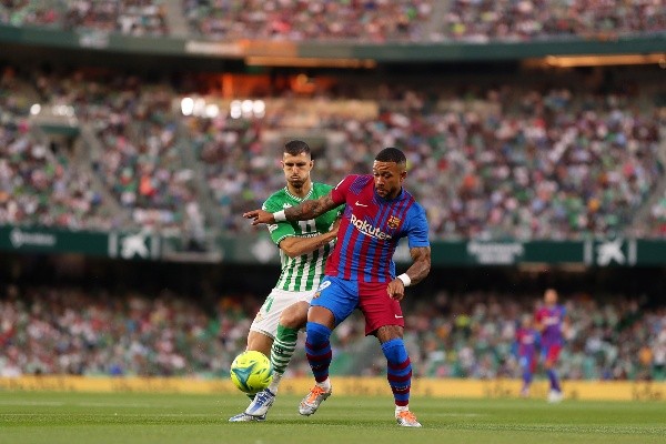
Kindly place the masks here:
<instances>
[{"instance_id":1,"label":"green-and-white striped shirt on the bearded player","mask_svg":"<svg viewBox=\"0 0 666 444\"><path fill-rule=\"evenodd\" d=\"M322 195L329 194L333 189L324 183L312 183L310 193L303 199L291 194L287 188L273 193L263 204L263 209L271 213L284 210L290 206L295 206L309 199L319 199ZM330 210L314 220L309 221L285 221L269 225L271 240L275 245L290 236L315 236L326 233L331 230L331 225L342 211L342 206ZM315 290L324 275L324 266L329 254L333 252L335 240L323 245L319 250L309 254L303 254L299 258L290 258L280 250L280 260L282 262L282 273L275 284L276 289L285 291L311 291Z\"/></svg>"}]
</instances>

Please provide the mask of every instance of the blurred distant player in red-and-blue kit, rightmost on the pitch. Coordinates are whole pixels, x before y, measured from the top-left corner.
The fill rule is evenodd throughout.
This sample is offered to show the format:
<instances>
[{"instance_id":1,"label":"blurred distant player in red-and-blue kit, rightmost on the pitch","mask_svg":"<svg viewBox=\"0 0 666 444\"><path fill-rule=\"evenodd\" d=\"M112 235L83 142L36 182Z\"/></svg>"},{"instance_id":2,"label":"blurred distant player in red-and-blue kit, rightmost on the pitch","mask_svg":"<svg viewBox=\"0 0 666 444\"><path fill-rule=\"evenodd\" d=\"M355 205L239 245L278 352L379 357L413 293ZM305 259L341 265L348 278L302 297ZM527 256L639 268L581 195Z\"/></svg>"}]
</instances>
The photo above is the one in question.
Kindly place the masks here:
<instances>
[{"instance_id":1,"label":"blurred distant player in red-and-blue kit, rightmost on the pitch","mask_svg":"<svg viewBox=\"0 0 666 444\"><path fill-rule=\"evenodd\" d=\"M534 315L537 330L541 332L542 356L544 367L551 383L548 402L562 401L562 387L555 366L563 345L562 330L564 326L566 310L557 304L557 291L547 289L544 292L544 306L538 309Z\"/></svg>"}]
</instances>

